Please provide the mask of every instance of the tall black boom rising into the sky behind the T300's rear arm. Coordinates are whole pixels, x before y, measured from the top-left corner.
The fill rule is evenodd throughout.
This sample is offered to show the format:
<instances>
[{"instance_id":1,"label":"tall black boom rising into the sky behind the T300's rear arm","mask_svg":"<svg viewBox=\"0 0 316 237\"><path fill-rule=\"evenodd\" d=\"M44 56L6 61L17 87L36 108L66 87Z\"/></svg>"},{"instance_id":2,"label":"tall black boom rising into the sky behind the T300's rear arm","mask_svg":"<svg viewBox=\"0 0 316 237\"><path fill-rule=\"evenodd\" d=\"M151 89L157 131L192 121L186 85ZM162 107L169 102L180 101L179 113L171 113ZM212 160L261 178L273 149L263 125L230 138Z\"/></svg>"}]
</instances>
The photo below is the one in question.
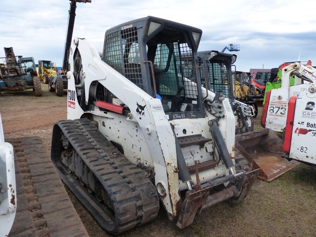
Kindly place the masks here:
<instances>
[{"instance_id":1,"label":"tall black boom rising into the sky behind the T300's rear arm","mask_svg":"<svg viewBox=\"0 0 316 237\"><path fill-rule=\"evenodd\" d=\"M91 3L91 0L70 0L70 9L68 16L68 24L66 30L66 40L64 47L64 57L63 57L63 70L67 72L69 70L69 48L71 45L72 33L74 31L75 17L76 17L76 3Z\"/></svg>"}]
</instances>

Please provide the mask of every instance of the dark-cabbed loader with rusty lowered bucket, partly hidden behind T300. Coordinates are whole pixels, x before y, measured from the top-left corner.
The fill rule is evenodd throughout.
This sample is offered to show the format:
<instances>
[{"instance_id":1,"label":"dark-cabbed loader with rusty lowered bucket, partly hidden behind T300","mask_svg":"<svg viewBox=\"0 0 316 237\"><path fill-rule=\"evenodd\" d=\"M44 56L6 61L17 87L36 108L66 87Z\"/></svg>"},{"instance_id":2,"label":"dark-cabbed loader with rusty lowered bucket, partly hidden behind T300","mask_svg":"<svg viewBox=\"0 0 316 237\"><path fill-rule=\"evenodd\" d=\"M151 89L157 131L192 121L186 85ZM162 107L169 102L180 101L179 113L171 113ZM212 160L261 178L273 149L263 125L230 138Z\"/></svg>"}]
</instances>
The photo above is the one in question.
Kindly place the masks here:
<instances>
[{"instance_id":1,"label":"dark-cabbed loader with rusty lowered bucket, partly hidden behind T300","mask_svg":"<svg viewBox=\"0 0 316 237\"><path fill-rule=\"evenodd\" d=\"M211 89L214 92L222 91L230 99L236 118L235 149L246 157L254 168L260 169L258 178L271 181L295 167L297 162L288 161L281 156L283 143L273 131L269 131L269 129L253 131L252 117L255 117L258 110L254 111L252 106L234 100L231 64L236 61L236 55L218 51L198 52L197 55L199 65L205 65L206 76ZM242 76L241 74L238 75L236 71L234 74L235 80L237 76ZM203 74L200 76L203 78ZM243 84L241 78L239 81ZM254 107L256 108L256 106Z\"/></svg>"}]
</instances>

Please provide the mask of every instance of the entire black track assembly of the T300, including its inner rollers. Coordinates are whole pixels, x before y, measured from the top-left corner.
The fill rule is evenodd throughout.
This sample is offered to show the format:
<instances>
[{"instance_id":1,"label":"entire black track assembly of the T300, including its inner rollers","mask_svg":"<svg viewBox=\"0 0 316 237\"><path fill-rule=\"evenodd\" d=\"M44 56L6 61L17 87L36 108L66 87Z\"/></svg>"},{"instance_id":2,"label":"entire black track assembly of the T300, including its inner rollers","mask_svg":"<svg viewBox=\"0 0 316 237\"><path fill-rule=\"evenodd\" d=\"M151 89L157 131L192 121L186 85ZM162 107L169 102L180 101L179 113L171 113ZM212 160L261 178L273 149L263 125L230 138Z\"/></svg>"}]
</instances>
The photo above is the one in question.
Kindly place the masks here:
<instances>
[{"instance_id":1,"label":"entire black track assembly of the T300, including its inner rollers","mask_svg":"<svg viewBox=\"0 0 316 237\"><path fill-rule=\"evenodd\" d=\"M56 122L52 161L64 183L106 231L119 234L157 216L155 186L90 120Z\"/></svg>"}]
</instances>

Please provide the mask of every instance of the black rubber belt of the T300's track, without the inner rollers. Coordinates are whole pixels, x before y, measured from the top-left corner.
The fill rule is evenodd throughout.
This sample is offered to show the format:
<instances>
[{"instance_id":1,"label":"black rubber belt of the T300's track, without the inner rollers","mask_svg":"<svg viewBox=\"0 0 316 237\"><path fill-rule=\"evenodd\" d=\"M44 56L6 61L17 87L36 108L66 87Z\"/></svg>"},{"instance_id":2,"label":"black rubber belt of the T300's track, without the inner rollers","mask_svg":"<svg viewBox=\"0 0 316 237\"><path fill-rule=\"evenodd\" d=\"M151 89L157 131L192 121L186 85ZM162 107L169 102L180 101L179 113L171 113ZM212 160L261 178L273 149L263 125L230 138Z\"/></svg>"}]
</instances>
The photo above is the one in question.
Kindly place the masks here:
<instances>
[{"instance_id":1,"label":"black rubber belt of the T300's track, without the inner rollers","mask_svg":"<svg viewBox=\"0 0 316 237\"><path fill-rule=\"evenodd\" d=\"M52 157L60 169L63 181L66 185L69 184L71 191L102 228L112 234L119 234L157 216L159 197L155 186L102 135L93 122L88 119L63 120L58 121L56 125L66 135L84 164L103 185L112 201L115 216L105 204L100 210L100 202L92 197L93 194L87 194L86 187L73 185L79 181L65 172L65 166L60 164L60 157ZM87 197L83 197L87 195L88 201Z\"/></svg>"}]
</instances>

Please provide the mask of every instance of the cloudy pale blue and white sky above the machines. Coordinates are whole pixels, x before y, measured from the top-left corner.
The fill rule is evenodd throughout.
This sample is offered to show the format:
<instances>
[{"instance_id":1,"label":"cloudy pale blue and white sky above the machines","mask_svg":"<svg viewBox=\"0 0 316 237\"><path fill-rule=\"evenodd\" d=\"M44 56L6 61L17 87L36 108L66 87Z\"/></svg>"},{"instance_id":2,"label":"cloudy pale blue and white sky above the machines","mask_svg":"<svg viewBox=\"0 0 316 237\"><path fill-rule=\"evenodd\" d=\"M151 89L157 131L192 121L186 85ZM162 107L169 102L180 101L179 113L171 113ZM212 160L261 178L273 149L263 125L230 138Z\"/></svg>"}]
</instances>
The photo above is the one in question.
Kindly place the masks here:
<instances>
[{"instance_id":1,"label":"cloudy pale blue and white sky above the machines","mask_svg":"<svg viewBox=\"0 0 316 237\"><path fill-rule=\"evenodd\" d=\"M15 55L51 60L61 66L69 0L0 0L0 57L3 47ZM73 36L102 51L107 29L147 15L203 30L199 51L221 51L240 44L237 70L273 68L286 61L316 65L316 1L92 0L77 3Z\"/></svg>"}]
</instances>

